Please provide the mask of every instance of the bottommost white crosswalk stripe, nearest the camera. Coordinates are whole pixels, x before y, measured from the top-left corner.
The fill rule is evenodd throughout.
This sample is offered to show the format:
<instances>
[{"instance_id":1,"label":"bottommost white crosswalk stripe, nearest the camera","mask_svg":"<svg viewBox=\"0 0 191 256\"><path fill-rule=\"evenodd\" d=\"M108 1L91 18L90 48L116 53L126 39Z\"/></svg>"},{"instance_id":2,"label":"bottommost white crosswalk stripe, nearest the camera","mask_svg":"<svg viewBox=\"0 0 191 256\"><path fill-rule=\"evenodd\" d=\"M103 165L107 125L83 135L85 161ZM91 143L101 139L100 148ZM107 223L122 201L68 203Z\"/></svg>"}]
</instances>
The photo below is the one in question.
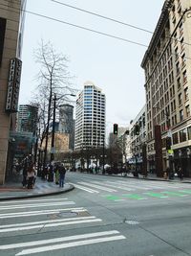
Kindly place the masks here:
<instances>
[{"instance_id":1,"label":"bottommost white crosswalk stripe, nearest the camera","mask_svg":"<svg viewBox=\"0 0 191 256\"><path fill-rule=\"evenodd\" d=\"M42 247L36 247L32 249L25 249L21 252L15 254L15 256L21 256L21 255L29 255L33 253L39 253L39 252L45 252L45 251L53 251L57 249L64 249L74 246L81 246L81 245L87 245L87 244L99 244L104 242L112 242L112 241L118 241L118 240L124 240L126 237L124 236L113 236L108 238L97 238L97 239L90 239L90 240L82 240L77 242L71 242L67 244L55 244L55 245L48 245L48 246L42 246Z\"/></svg>"}]
</instances>

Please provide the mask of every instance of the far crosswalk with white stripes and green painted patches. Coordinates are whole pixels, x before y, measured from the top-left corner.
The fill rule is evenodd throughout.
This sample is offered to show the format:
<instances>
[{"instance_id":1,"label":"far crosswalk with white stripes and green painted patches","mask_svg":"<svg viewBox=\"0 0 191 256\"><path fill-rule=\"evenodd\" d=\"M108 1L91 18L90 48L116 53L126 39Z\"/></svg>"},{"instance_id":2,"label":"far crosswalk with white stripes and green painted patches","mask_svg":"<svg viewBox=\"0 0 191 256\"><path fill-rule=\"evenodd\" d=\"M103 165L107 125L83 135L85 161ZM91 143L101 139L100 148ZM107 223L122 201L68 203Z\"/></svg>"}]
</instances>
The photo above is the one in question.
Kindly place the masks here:
<instances>
[{"instance_id":1,"label":"far crosswalk with white stripes and green painted patches","mask_svg":"<svg viewBox=\"0 0 191 256\"><path fill-rule=\"evenodd\" d=\"M191 196L191 185L142 180L83 180L72 183L75 188L115 201L125 199L172 198ZM126 193L126 194L125 194ZM136 193L136 194L135 194ZM118 197L118 195L125 197Z\"/></svg>"}]
</instances>

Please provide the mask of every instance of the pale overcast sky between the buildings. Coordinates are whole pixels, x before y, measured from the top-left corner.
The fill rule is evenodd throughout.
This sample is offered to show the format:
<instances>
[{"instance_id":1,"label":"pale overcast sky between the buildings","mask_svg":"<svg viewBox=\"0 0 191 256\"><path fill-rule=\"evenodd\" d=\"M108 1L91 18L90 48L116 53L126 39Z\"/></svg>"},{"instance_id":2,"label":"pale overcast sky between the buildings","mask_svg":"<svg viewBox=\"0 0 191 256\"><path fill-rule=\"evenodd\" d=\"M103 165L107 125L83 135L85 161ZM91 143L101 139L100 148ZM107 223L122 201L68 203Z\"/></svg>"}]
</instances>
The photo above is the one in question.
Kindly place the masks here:
<instances>
[{"instance_id":1,"label":"pale overcast sky between the buildings","mask_svg":"<svg viewBox=\"0 0 191 256\"><path fill-rule=\"evenodd\" d=\"M119 21L154 31L164 0L57 0L96 12ZM148 45L151 34L85 12L54 3L52 0L28 0L27 11L83 26ZM70 58L69 71L74 87L81 90L85 81L93 81L106 95L107 128L117 123L128 126L145 104L144 73L140 67L146 47L97 35L72 26L26 13L23 41L23 72L20 104L28 104L38 70L33 51L41 39Z\"/></svg>"}]
</instances>

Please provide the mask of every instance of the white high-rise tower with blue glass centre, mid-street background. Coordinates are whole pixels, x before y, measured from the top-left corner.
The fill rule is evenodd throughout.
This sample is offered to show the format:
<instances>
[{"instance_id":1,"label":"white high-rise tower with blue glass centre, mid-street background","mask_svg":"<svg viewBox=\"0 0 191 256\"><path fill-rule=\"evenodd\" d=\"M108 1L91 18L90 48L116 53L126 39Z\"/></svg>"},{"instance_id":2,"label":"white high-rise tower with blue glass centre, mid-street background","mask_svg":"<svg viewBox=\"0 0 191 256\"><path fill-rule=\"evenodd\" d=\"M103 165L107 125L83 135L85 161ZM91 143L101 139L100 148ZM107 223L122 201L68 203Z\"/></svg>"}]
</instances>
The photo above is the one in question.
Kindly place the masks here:
<instances>
[{"instance_id":1,"label":"white high-rise tower with blue glass centre, mid-street background","mask_svg":"<svg viewBox=\"0 0 191 256\"><path fill-rule=\"evenodd\" d=\"M105 95L92 81L86 81L76 101L74 149L99 148L104 142Z\"/></svg>"}]
</instances>

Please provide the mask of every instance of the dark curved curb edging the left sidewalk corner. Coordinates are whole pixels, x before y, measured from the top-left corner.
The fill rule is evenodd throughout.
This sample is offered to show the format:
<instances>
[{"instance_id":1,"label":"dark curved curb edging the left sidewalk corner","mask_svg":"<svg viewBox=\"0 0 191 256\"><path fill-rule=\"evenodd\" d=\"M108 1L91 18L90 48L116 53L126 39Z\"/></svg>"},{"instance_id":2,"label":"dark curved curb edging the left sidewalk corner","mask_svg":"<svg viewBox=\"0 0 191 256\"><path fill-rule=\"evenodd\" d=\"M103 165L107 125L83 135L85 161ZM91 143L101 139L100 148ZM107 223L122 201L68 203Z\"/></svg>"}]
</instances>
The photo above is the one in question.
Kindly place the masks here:
<instances>
[{"instance_id":1,"label":"dark curved curb edging the left sidewalk corner","mask_svg":"<svg viewBox=\"0 0 191 256\"><path fill-rule=\"evenodd\" d=\"M64 194L67 192L70 192L72 190L74 190L74 186L69 184L70 188L66 189L66 190L61 190L61 191L53 191L50 193L42 193L42 194L33 194L33 195L29 195L29 196L18 196L18 197L11 197L11 198L0 198L0 201L7 201L7 200L15 200L15 199L27 199L27 198L42 198L42 197L48 197L48 196L53 196L53 195L60 195L60 194Z\"/></svg>"}]
</instances>

